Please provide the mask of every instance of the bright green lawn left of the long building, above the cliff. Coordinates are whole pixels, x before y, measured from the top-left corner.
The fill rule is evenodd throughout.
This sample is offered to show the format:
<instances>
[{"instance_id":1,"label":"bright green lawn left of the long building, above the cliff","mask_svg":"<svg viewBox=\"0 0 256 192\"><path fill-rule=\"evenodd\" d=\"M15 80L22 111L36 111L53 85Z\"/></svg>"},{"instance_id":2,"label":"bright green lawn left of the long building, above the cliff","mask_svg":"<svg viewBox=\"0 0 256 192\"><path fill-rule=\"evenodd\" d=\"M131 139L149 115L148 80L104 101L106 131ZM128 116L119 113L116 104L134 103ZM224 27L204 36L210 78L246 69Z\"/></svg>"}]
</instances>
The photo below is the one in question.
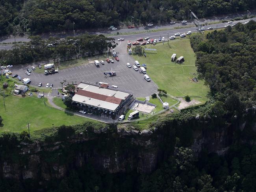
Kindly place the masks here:
<instances>
[{"instance_id":1,"label":"bright green lawn left of the long building, above the cliff","mask_svg":"<svg viewBox=\"0 0 256 192\"><path fill-rule=\"evenodd\" d=\"M3 122L0 131L22 131L27 130L28 123L30 130L42 129L45 127L73 125L88 120L70 113L65 113L54 108L46 107L43 98L26 96L7 96L5 98L6 111L4 109L3 97L0 97L0 115Z\"/></svg>"}]
</instances>

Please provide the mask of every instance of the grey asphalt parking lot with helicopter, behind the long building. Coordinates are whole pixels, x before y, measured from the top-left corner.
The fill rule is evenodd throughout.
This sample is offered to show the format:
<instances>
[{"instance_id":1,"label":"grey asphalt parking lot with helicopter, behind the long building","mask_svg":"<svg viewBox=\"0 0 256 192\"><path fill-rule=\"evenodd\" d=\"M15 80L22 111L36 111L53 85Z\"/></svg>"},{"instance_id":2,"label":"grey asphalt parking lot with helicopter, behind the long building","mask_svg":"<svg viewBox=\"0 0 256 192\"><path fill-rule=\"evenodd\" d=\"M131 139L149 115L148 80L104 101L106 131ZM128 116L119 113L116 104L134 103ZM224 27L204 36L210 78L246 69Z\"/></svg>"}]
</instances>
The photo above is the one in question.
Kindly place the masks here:
<instances>
[{"instance_id":1,"label":"grey asphalt parking lot with helicopter, behind the long building","mask_svg":"<svg viewBox=\"0 0 256 192\"><path fill-rule=\"evenodd\" d=\"M124 42L122 42L124 45ZM121 48L121 47L120 47ZM109 83L109 86L116 85L118 89L127 90L134 93L134 96L145 97L150 96L157 91L157 85L153 82L147 82L143 74L140 74L139 71L135 71L133 68L128 68L126 63L134 65L134 59L121 48L119 53L120 61L115 61L115 63L107 63L105 65L100 64L96 66L94 63L75 66L72 68L67 68L59 70L56 74L38 74L35 73L31 66L21 65L14 66L11 68L13 74L19 74L21 78L30 78L31 85L38 86L39 83L43 83L42 87L45 87L46 83L54 84L54 87L61 87L60 82L63 82L66 79L67 83L79 83L80 81L89 81L89 82L105 82ZM117 50L118 51L118 50ZM33 65L35 66L35 65ZM43 67L43 65L42 65ZM26 69L31 69L31 75L27 76L25 74ZM116 71L116 76L105 76L103 73L105 71Z\"/></svg>"}]
</instances>

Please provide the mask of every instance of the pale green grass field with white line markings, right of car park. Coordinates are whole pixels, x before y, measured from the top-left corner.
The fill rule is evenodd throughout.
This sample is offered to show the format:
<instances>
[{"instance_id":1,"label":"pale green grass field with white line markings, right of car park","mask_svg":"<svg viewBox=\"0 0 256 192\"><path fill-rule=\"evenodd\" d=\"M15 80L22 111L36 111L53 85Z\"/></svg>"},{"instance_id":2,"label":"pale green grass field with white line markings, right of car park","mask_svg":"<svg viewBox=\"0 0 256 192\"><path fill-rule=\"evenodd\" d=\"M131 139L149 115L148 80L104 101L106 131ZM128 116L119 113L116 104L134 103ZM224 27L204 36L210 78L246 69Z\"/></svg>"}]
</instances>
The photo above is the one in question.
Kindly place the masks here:
<instances>
[{"instance_id":1,"label":"pale green grass field with white line markings, right of car park","mask_svg":"<svg viewBox=\"0 0 256 192\"><path fill-rule=\"evenodd\" d=\"M169 41L164 44L158 43L147 48L154 48L157 51L146 51L147 57L133 55L139 63L147 64L147 74L158 85L173 96L200 96L197 100L207 101L208 87L204 85L204 80L191 82L189 77L197 77L195 66L195 53L193 52L189 39ZM172 54L177 57L184 56L183 65L171 62ZM195 74L195 75L194 75Z\"/></svg>"}]
</instances>

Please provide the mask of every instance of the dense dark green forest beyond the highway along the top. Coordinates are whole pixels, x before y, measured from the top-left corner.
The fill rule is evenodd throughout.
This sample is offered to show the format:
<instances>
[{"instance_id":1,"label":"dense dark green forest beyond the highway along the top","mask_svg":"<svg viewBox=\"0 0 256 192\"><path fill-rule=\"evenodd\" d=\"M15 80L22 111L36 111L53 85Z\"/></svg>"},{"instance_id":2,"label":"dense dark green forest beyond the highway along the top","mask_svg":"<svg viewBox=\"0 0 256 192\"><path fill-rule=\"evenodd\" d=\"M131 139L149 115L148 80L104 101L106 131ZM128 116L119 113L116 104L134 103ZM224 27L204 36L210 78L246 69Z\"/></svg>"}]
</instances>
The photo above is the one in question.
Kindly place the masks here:
<instances>
[{"instance_id":1,"label":"dense dark green forest beyond the highway along the top","mask_svg":"<svg viewBox=\"0 0 256 192\"><path fill-rule=\"evenodd\" d=\"M165 23L247 11L255 0L2 0L0 35L104 28L110 25Z\"/></svg>"}]
</instances>

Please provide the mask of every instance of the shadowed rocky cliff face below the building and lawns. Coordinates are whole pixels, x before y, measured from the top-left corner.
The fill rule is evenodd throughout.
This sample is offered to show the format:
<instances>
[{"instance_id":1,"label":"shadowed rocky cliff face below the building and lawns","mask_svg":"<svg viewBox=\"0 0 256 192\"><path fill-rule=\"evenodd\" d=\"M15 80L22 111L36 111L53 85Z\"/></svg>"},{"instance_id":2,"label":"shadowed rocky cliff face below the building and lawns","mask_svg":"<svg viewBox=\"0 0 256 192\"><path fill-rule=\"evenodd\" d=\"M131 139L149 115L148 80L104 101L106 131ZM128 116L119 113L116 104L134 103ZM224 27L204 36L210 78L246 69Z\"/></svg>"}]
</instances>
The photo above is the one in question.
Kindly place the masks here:
<instances>
[{"instance_id":1,"label":"shadowed rocky cliff face below the building and lawns","mask_svg":"<svg viewBox=\"0 0 256 192\"><path fill-rule=\"evenodd\" d=\"M194 129L193 140L188 142L195 155L203 149L223 155L233 142L234 131L246 127L243 123L240 127L229 124L213 130L207 121L193 121L193 127L198 124L204 127ZM184 126L185 131L189 129ZM54 143L20 143L8 157L1 157L0 175L19 181L34 179L44 184L64 177L68 170L88 164L109 173L150 173L173 155L176 133L177 130L169 126L141 132L115 128L93 130L90 136L80 133Z\"/></svg>"}]
</instances>

